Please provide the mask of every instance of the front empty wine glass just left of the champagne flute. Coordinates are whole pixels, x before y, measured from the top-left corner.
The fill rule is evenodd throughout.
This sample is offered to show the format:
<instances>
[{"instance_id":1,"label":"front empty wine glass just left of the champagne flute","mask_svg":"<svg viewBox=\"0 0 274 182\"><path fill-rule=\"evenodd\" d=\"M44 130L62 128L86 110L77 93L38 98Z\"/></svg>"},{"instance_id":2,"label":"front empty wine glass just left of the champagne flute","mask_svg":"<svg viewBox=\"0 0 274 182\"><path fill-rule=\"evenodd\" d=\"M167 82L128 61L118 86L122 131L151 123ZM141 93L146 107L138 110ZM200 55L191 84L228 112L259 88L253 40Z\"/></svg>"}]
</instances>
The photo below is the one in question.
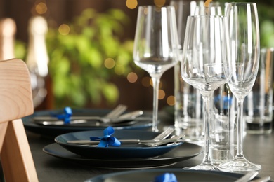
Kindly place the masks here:
<instances>
[{"instance_id":1,"label":"front empty wine glass just left of the champagne flute","mask_svg":"<svg viewBox=\"0 0 274 182\"><path fill-rule=\"evenodd\" d=\"M230 50L226 17L189 16L181 75L202 94L204 101L204 159L202 164L186 169L215 170L209 157L210 99L214 90L230 79Z\"/></svg>"}]
</instances>

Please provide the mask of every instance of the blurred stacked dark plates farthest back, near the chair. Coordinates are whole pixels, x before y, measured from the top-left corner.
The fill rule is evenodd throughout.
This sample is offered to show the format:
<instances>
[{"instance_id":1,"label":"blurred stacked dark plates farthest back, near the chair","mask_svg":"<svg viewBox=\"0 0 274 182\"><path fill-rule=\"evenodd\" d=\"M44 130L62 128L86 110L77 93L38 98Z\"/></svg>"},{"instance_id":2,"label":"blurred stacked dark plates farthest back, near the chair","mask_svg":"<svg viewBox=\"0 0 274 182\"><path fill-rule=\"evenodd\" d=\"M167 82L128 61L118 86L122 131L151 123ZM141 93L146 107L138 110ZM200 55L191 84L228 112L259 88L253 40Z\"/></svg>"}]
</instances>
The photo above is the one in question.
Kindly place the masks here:
<instances>
[{"instance_id":1,"label":"blurred stacked dark plates farthest back, near the chair","mask_svg":"<svg viewBox=\"0 0 274 182\"><path fill-rule=\"evenodd\" d=\"M60 134L65 134L69 132L79 132L87 130L103 130L106 126L104 123L79 123L73 125L41 125L37 123L34 118L37 116L52 116L53 113L62 113L63 110L47 110L47 111L37 111L31 116L22 118L25 129L34 132L36 134L41 134L46 137L56 137ZM107 109L72 109L73 116L105 116L110 110ZM143 116L149 118L151 114L144 113ZM112 127L115 130L148 130L152 126L151 120L138 120L131 121L127 123L116 123Z\"/></svg>"}]
</instances>

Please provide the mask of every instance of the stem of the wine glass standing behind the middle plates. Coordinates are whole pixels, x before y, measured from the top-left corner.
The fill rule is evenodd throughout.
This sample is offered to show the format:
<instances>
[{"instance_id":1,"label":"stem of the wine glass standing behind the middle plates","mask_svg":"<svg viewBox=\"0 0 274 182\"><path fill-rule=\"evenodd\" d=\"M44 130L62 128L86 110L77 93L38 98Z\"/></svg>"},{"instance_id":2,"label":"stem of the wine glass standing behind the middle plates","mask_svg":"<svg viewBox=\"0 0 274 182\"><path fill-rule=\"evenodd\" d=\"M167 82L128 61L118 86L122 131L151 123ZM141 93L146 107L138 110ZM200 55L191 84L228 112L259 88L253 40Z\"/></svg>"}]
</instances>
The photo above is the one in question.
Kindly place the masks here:
<instances>
[{"instance_id":1,"label":"stem of the wine glass standing behind the middle plates","mask_svg":"<svg viewBox=\"0 0 274 182\"><path fill-rule=\"evenodd\" d=\"M159 98L159 81L162 74L151 76L153 84L153 116L152 116L152 132L158 132L157 122L158 122L158 98Z\"/></svg>"}]
</instances>

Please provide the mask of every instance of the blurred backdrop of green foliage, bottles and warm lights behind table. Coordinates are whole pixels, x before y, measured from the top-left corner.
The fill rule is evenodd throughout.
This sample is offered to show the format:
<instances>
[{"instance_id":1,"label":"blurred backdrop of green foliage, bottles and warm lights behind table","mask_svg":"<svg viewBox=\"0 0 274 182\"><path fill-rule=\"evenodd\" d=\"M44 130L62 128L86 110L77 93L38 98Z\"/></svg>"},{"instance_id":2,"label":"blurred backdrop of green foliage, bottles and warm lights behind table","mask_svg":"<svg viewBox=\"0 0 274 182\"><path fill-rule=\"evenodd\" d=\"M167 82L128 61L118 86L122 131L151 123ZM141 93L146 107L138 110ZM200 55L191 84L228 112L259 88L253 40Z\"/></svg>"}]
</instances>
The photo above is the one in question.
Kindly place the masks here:
<instances>
[{"instance_id":1,"label":"blurred backdrop of green foliage, bottles and warm lights behind table","mask_svg":"<svg viewBox=\"0 0 274 182\"><path fill-rule=\"evenodd\" d=\"M255 2L261 47L274 47L274 0ZM150 76L132 58L136 18L138 6L168 4L168 0L0 0L0 58L11 58L4 57L4 50L12 36L11 55L25 60L33 73L36 110L117 104L152 110ZM15 31L4 28L10 25ZM174 71L169 69L161 78L159 109L173 105Z\"/></svg>"}]
</instances>

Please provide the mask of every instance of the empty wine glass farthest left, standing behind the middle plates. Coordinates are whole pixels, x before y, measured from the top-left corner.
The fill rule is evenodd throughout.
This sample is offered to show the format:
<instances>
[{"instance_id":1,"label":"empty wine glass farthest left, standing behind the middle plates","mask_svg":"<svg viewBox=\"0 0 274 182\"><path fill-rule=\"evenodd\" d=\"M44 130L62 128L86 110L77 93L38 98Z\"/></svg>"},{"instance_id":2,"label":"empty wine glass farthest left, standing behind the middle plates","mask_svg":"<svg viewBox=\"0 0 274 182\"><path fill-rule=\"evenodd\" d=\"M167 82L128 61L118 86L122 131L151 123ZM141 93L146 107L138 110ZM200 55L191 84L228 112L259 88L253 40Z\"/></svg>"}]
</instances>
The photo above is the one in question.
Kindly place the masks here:
<instances>
[{"instance_id":1,"label":"empty wine glass farthest left, standing behind the middle plates","mask_svg":"<svg viewBox=\"0 0 274 182\"><path fill-rule=\"evenodd\" d=\"M152 131L157 132L159 80L178 62L178 34L174 6L139 6L133 59L148 71L153 83Z\"/></svg>"}]
</instances>

